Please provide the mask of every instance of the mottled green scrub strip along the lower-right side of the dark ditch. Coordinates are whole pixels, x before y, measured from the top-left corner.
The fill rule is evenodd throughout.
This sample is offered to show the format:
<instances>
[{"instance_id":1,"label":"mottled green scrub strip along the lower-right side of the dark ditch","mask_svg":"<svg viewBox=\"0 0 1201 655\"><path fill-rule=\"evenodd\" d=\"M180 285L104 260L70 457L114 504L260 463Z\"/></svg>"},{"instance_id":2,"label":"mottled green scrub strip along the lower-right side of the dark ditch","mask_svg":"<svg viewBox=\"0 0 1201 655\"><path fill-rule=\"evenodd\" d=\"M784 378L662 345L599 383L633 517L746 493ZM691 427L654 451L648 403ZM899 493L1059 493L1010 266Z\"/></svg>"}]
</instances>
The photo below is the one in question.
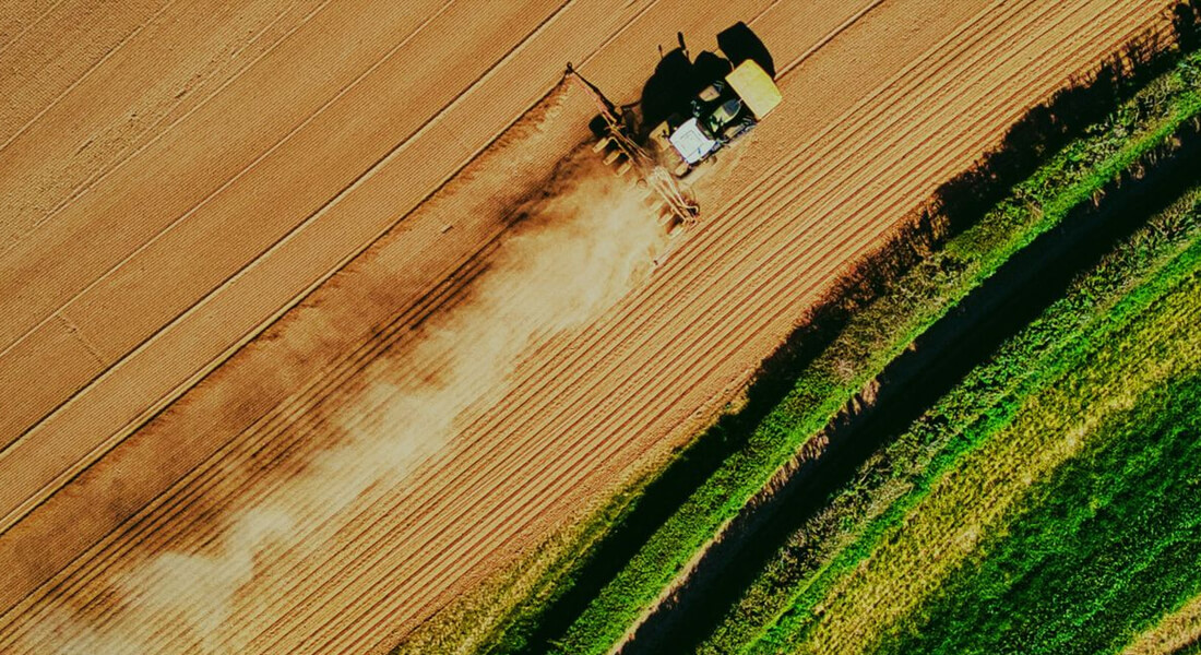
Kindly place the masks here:
<instances>
[{"instance_id":1,"label":"mottled green scrub strip along the lower-right side of the dark ditch","mask_svg":"<svg viewBox=\"0 0 1201 655\"><path fill-rule=\"evenodd\" d=\"M948 468L1012 418L1028 389L1076 363L1062 353L1070 338L1099 318L1117 317L1115 305L1131 285L1175 261L1201 233L1199 204L1201 190L1193 190L1153 218L1003 345L987 365L968 374L908 431L870 458L855 480L783 548L701 650L734 651L784 609L817 603ZM1140 305L1127 302L1122 306L1129 312Z\"/></svg>"}]
</instances>

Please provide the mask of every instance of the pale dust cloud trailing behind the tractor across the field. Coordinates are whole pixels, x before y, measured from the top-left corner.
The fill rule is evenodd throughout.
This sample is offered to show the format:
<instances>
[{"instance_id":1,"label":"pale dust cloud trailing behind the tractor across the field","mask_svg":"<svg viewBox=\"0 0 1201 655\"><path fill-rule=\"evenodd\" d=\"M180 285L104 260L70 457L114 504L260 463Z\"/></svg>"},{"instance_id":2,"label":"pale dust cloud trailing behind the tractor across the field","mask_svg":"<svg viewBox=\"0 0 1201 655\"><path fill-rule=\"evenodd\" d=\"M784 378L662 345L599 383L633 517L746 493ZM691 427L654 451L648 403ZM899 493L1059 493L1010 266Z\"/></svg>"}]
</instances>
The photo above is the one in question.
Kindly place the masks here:
<instances>
[{"instance_id":1,"label":"pale dust cloud trailing behind the tractor across the field","mask_svg":"<svg viewBox=\"0 0 1201 655\"><path fill-rule=\"evenodd\" d=\"M249 648L287 612L273 603L286 591L281 571L335 554L340 513L444 447L468 407L512 386L508 375L531 346L597 317L646 275L663 237L641 193L607 169L563 178L526 208L468 300L388 363L392 380L334 417L339 446L232 517L202 552L154 556L112 582L112 607L49 617L23 645L71 654Z\"/></svg>"}]
</instances>

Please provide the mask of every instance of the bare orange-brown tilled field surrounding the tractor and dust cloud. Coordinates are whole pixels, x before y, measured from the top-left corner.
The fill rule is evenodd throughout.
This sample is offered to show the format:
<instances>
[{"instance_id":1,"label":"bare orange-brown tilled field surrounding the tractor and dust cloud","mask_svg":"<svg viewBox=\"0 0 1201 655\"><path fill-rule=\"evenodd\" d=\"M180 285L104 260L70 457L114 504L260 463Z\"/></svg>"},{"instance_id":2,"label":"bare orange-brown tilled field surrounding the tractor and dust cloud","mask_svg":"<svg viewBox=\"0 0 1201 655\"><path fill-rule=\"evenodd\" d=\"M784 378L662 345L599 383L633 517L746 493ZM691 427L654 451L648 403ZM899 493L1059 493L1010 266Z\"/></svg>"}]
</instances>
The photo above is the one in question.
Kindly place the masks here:
<instances>
[{"instance_id":1,"label":"bare orange-brown tilled field surrounding the tractor and dust cloud","mask_svg":"<svg viewBox=\"0 0 1201 655\"><path fill-rule=\"evenodd\" d=\"M339 548L244 590L251 649L387 644L679 443L847 262L1164 7L160 1L59 29L84 5L0 23L2 650L59 607L103 623L119 572L202 550L337 440L340 407L422 373L412 327L586 136L567 60L632 100L676 30L695 52L742 19L787 102L701 185L669 266L526 353L495 407L333 522Z\"/></svg>"}]
</instances>

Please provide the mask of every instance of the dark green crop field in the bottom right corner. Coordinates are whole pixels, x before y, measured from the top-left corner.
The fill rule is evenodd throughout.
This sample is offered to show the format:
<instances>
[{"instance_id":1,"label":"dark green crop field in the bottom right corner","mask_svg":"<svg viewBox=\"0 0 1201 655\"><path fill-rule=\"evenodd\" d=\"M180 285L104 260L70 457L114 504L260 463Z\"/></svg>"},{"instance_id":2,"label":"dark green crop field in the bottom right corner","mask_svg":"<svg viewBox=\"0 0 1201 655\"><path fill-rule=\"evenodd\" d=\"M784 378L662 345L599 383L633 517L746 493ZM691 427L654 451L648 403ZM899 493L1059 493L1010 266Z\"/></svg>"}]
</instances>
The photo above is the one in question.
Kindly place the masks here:
<instances>
[{"instance_id":1,"label":"dark green crop field in the bottom right corner","mask_svg":"<svg viewBox=\"0 0 1201 655\"><path fill-rule=\"evenodd\" d=\"M1097 429L877 653L1113 653L1201 591L1201 379Z\"/></svg>"}]
</instances>

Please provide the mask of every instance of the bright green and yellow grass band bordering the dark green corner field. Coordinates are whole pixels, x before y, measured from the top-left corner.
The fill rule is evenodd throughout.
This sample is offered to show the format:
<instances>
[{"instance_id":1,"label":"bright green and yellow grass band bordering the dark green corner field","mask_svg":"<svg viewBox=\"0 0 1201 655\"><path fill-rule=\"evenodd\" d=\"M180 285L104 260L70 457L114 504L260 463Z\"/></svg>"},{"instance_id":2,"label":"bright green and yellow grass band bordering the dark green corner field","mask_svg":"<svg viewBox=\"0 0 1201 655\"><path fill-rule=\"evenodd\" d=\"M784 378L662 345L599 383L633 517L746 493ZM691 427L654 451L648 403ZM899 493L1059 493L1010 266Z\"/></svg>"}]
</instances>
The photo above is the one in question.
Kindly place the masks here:
<instances>
[{"instance_id":1,"label":"bright green and yellow grass band bordering the dark green corner field","mask_svg":"<svg viewBox=\"0 0 1201 655\"><path fill-rule=\"evenodd\" d=\"M1195 222L1195 198L1191 207ZM1151 248L1133 244L1127 263L1151 254ZM759 636L752 651L809 647L823 651L833 645L850 653L866 648L868 635L895 626L883 615L904 615L939 586L955 561L975 548L981 528L1004 532L1004 525L998 526L998 507L1011 506L1008 504L1029 481L1038 480L1040 471L1058 465L1040 460L1042 451L1056 451L1063 441L1071 445L1091 434L1087 421L1074 417L1103 421L1112 410L1107 403L1113 389L1140 394L1161 381L1151 370L1155 367L1147 365L1149 373L1140 373L1136 362L1146 364L1145 358L1155 352L1164 362L1183 362L1182 367L1201 363L1201 343L1195 343L1197 338L1188 328L1188 321L1195 321L1201 311L1201 243L1193 242L1128 291L1134 280L1123 274L1122 262L1123 257L1111 258L1086 278L940 401L930 412L931 419L902 437L940 446L906 494L867 522L854 542L817 576L794 589L788 611ZM1100 293L1106 287L1118 291L1121 300L1107 302ZM1165 297L1172 302L1161 302ZM1047 387L1050 382L1054 385ZM1062 434L1081 436L1057 441ZM1076 453L1069 449L1060 455L1069 459ZM981 478L985 472L991 477ZM976 507L993 513L973 516ZM954 523L948 517L955 517ZM945 544L946 532L958 532L967 543ZM939 543L946 550L934 556ZM920 552L931 559L916 556ZM906 582L897 582L904 576L909 576ZM867 619L856 614L854 606L848 607L848 597L852 593L879 594L885 580L896 583L891 606L871 618L877 624L873 627L856 624ZM848 635L855 635L852 641L856 643L848 644Z\"/></svg>"}]
</instances>

